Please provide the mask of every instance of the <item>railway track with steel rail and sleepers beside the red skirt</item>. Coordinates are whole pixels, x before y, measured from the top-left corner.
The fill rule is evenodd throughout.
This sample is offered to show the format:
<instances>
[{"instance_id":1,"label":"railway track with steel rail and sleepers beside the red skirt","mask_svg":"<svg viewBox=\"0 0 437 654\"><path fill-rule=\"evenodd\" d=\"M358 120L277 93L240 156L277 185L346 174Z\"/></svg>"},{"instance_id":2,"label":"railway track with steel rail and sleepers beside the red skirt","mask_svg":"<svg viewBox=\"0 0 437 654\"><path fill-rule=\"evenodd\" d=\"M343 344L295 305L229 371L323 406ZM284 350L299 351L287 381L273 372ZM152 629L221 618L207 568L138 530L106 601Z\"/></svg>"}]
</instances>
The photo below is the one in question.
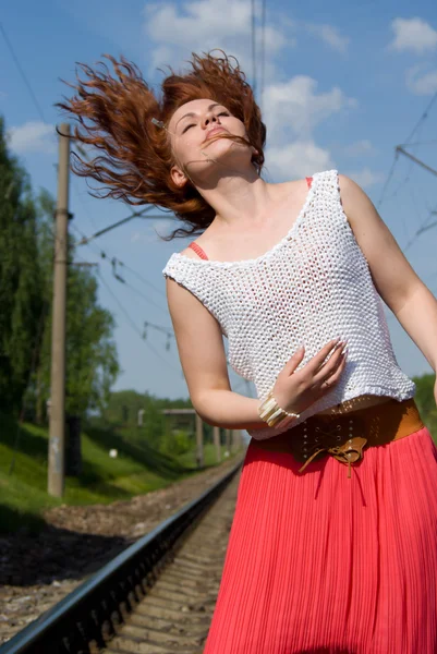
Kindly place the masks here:
<instances>
[{"instance_id":1,"label":"railway track with steel rail and sleepers beside the red skirt","mask_svg":"<svg viewBox=\"0 0 437 654\"><path fill-rule=\"evenodd\" d=\"M202 653L240 467L0 646L0 654Z\"/></svg>"}]
</instances>

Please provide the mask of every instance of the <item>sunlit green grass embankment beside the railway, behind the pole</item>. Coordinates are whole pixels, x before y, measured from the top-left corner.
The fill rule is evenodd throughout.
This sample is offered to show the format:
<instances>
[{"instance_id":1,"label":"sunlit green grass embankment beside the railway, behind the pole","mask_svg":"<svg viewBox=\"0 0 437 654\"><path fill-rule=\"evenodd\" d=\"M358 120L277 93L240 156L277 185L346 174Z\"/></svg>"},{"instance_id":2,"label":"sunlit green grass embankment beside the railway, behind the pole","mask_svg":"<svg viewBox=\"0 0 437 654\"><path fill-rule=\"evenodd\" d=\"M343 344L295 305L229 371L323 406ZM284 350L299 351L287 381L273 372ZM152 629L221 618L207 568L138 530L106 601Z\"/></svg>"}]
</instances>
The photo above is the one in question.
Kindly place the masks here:
<instances>
[{"instance_id":1,"label":"sunlit green grass embankment beside the railway, behind the pole","mask_svg":"<svg viewBox=\"0 0 437 654\"><path fill-rule=\"evenodd\" d=\"M82 474L66 477L64 496L57 499L47 494L47 429L25 423L17 431L4 415L0 425L0 533L37 531L43 511L52 506L129 499L197 472L194 452L173 458L126 435L89 427L82 434ZM116 459L110 449L118 450ZM214 446L206 444L205 467L215 463Z\"/></svg>"}]
</instances>

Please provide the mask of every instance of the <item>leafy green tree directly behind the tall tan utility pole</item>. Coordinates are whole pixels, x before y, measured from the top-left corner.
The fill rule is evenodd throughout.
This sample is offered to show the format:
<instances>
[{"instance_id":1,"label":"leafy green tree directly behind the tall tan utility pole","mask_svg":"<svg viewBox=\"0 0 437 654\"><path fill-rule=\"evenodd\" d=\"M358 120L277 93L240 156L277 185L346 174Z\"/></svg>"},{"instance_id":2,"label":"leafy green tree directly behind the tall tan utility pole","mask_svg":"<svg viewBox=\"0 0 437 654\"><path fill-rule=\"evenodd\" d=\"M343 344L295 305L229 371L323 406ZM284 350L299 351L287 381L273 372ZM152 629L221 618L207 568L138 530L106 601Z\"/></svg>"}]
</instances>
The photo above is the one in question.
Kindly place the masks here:
<instances>
[{"instance_id":1,"label":"leafy green tree directly behind the tall tan utility pole","mask_svg":"<svg viewBox=\"0 0 437 654\"><path fill-rule=\"evenodd\" d=\"M37 420L41 420L50 396L51 293L52 293L52 220L54 199L47 191L37 198L39 216L39 257L46 293L47 315L41 352L29 392L34 397ZM112 315L98 305L97 281L89 269L73 264L74 243L69 253L66 301L66 398L70 414L84 415L101 410L111 385L119 374L112 339Z\"/></svg>"}]
</instances>

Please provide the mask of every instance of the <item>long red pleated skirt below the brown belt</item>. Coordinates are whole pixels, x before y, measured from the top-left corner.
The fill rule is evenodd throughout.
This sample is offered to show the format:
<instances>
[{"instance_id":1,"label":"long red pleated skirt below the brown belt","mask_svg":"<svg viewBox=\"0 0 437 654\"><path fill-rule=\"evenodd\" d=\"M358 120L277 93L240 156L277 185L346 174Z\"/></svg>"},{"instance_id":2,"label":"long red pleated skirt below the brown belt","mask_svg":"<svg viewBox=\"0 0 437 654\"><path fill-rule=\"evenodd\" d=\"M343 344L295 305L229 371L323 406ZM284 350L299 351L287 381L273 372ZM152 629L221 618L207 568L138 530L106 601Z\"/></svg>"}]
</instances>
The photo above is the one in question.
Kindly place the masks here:
<instances>
[{"instance_id":1,"label":"long red pleated skirt below the brown belt","mask_svg":"<svg viewBox=\"0 0 437 654\"><path fill-rule=\"evenodd\" d=\"M251 443L204 653L436 654L428 429L300 467Z\"/></svg>"}]
</instances>

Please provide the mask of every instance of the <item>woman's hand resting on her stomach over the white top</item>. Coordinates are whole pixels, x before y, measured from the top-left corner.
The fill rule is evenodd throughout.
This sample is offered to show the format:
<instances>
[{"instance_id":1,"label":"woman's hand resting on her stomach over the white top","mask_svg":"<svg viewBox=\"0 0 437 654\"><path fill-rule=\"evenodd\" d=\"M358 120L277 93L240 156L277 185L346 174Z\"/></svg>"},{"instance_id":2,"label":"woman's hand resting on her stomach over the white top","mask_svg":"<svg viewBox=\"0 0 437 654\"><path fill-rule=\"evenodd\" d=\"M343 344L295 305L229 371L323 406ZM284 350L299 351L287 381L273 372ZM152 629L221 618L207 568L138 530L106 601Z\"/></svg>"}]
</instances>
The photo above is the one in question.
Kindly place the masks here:
<instances>
[{"instance_id":1,"label":"woman's hand resting on her stomach over the white top","mask_svg":"<svg viewBox=\"0 0 437 654\"><path fill-rule=\"evenodd\" d=\"M345 343L332 340L311 359L299 372L294 372L305 354L305 348L294 352L279 373L272 392L279 407L290 413L302 413L337 384L345 366ZM325 362L329 352L333 353ZM437 393L437 383L435 391ZM436 396L437 397L437 396Z\"/></svg>"}]
</instances>

